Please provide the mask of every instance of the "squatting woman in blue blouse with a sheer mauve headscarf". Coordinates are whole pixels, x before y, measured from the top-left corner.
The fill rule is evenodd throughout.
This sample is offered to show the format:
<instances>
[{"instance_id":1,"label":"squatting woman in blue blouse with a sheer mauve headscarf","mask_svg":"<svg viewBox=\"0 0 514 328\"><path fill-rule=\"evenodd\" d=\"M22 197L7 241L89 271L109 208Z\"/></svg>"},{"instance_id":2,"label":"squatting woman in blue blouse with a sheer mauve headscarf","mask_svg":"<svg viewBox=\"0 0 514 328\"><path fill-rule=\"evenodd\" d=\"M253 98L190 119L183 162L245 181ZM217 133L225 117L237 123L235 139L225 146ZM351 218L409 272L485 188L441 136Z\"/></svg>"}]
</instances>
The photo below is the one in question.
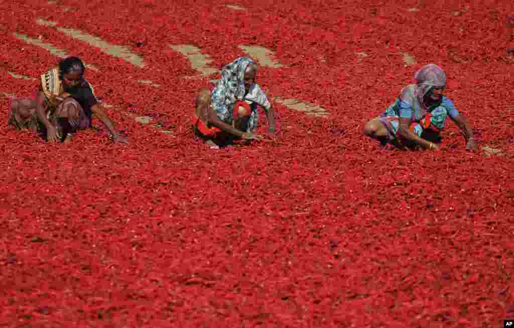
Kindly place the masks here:
<instances>
[{"instance_id":1,"label":"squatting woman in blue blouse with a sheer mauve headscarf","mask_svg":"<svg viewBox=\"0 0 514 328\"><path fill-rule=\"evenodd\" d=\"M397 146L437 150L439 146L433 140L439 139L449 116L462 130L466 149L475 150L473 131L466 118L451 100L443 96L446 86L443 70L434 64L425 65L416 72L414 80L417 83L403 88L400 97L386 112L366 123L364 134Z\"/></svg>"}]
</instances>

